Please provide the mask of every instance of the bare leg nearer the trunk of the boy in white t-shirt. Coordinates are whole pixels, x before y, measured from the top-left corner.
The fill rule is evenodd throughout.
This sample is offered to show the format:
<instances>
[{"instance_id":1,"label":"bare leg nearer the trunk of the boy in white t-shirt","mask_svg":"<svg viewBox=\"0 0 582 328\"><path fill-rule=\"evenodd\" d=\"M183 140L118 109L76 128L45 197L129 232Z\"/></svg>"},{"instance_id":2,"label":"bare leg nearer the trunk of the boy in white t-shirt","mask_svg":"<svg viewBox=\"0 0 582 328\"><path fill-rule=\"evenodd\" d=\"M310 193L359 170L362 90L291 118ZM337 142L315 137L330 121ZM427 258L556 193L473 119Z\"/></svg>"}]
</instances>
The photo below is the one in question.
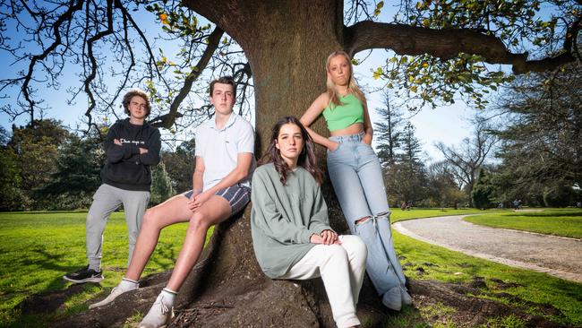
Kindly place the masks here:
<instances>
[{"instance_id":1,"label":"bare leg nearer the trunk of the boy in white t-shirt","mask_svg":"<svg viewBox=\"0 0 582 328\"><path fill-rule=\"evenodd\" d=\"M201 255L208 229L212 225L227 220L230 214L231 210L228 201L217 195L210 197L194 212L186 232L184 246L182 246L182 251L180 251L180 255L178 255L178 259L175 262L174 272L172 272L170 281L167 282L168 289L175 291L180 289L188 273L192 271L194 264Z\"/></svg>"}]
</instances>

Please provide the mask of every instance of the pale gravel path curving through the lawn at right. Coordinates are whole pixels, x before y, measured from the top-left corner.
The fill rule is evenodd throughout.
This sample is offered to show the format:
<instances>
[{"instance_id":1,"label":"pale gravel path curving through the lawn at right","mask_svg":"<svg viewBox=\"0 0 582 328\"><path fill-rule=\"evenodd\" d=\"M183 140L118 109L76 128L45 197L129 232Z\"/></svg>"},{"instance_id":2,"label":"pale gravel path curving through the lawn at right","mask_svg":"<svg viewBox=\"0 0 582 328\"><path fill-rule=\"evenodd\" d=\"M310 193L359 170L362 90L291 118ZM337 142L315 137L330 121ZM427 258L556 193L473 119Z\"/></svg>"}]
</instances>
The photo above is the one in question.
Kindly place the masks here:
<instances>
[{"instance_id":1,"label":"pale gravel path curving through the lawn at right","mask_svg":"<svg viewBox=\"0 0 582 328\"><path fill-rule=\"evenodd\" d=\"M467 255L582 282L582 240L494 229L466 222L464 217L404 220L393 228Z\"/></svg>"}]
</instances>

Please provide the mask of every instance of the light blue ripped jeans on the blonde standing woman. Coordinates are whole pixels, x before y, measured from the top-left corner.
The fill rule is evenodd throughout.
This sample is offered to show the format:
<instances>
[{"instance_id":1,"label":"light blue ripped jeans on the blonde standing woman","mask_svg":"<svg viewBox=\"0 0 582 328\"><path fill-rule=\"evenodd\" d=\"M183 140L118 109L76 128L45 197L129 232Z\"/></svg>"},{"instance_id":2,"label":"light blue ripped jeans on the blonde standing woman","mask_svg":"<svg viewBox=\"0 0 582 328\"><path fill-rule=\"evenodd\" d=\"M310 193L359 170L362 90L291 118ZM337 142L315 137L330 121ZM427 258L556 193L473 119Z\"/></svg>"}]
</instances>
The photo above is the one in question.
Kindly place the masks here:
<instances>
[{"instance_id":1,"label":"light blue ripped jeans on the blonde standing woman","mask_svg":"<svg viewBox=\"0 0 582 328\"><path fill-rule=\"evenodd\" d=\"M368 275L383 295L395 287L404 288L405 277L394 250L380 160L372 147L362 142L363 135L330 137L339 146L328 151L328 170L349 229L368 247Z\"/></svg>"}]
</instances>

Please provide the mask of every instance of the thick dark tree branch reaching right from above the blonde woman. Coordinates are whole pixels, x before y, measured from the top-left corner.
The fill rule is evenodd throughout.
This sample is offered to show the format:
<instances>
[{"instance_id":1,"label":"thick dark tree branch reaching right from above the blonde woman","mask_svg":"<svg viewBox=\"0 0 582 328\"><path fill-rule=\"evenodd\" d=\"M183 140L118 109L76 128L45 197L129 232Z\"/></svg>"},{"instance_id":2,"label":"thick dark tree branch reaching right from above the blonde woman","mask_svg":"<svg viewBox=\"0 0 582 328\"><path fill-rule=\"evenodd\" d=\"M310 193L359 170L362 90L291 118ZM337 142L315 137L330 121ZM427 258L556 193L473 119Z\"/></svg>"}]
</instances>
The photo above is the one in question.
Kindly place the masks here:
<instances>
[{"instance_id":1,"label":"thick dark tree branch reaching right from above the blonde woman","mask_svg":"<svg viewBox=\"0 0 582 328\"><path fill-rule=\"evenodd\" d=\"M572 48L576 45L580 19L569 27L564 51L557 56L527 60L527 53L514 54L501 39L476 30L433 30L398 23L358 22L345 29L345 49L350 55L371 48L389 48L398 55L429 54L441 59L459 53L483 56L490 64L513 65L514 73L543 72L574 61Z\"/></svg>"}]
</instances>

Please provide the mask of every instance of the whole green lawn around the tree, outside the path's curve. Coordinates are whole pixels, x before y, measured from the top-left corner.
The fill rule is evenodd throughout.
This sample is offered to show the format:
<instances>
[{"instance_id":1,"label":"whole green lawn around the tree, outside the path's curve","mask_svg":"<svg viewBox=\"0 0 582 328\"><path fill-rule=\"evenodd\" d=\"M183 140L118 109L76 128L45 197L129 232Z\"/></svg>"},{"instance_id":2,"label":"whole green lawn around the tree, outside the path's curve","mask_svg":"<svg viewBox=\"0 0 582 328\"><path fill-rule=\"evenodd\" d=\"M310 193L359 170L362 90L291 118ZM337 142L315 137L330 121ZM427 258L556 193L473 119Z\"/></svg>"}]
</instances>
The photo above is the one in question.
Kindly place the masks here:
<instances>
[{"instance_id":1,"label":"whole green lawn around the tree, outside the path's curve","mask_svg":"<svg viewBox=\"0 0 582 328\"><path fill-rule=\"evenodd\" d=\"M491 212L499 215L509 211L395 209L392 220ZM85 265L86 214L86 212L0 213L0 290L2 290L0 327L43 326L58 316L83 311L87 308L85 304L87 299L107 293L121 279L127 259L127 236L123 213L116 212L107 223L103 249L106 279L101 283L101 287L87 284L83 293L70 298L65 303L64 309L56 314L21 315L17 305L23 299L40 292L65 289L68 284L62 279L64 273ZM156 252L144 274L163 272L174 265L175 257L184 240L185 229L184 223L163 230ZM563 324L582 325L581 284L462 255L402 236L396 231L394 238L398 255L405 257L401 262L409 263L405 266L405 273L411 279L461 282L471 281L474 276L481 276L492 288L496 284L492 279L516 283L516 287L503 291L530 302L555 306L562 315L554 315L554 320ZM419 267L424 268L423 275L416 273ZM506 301L503 298L499 299ZM535 307L531 305L521 306L535 312ZM431 315L437 310L440 311L420 309L420 313ZM418 313L405 309L402 314L395 316L401 325L394 326L414 326L415 315Z\"/></svg>"}]
</instances>

